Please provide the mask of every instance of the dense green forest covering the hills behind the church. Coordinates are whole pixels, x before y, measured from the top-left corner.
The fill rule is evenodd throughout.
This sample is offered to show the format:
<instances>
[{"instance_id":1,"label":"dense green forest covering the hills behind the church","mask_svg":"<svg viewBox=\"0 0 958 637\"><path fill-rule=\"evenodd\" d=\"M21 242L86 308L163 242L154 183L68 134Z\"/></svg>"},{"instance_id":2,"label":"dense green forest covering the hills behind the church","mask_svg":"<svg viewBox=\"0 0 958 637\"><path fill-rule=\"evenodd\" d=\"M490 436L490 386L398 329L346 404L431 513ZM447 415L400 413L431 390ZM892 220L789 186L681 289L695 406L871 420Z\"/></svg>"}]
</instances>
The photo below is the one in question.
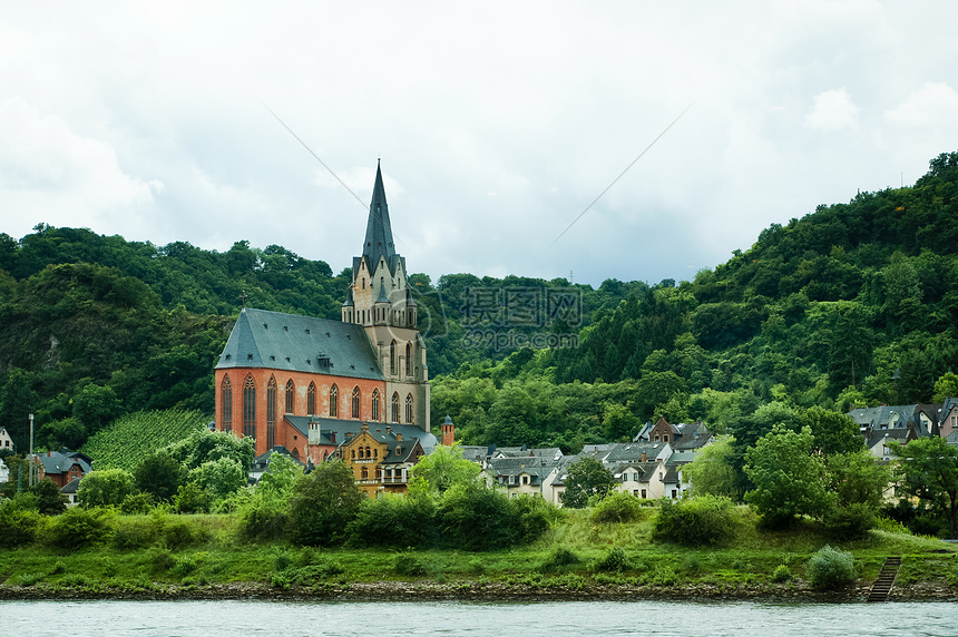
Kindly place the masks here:
<instances>
[{"instance_id":1,"label":"dense green forest covering the hills behind the church","mask_svg":"<svg viewBox=\"0 0 958 637\"><path fill-rule=\"evenodd\" d=\"M584 443L641 423L734 427L762 405L930 402L958 369L958 153L913 186L772 224L693 281L656 285L410 276L433 376L432 419L467 443ZM79 447L120 414L213 413L213 365L245 303L336 318L351 273L276 245L224 253L40 224L0 234L0 425L22 449ZM478 339L477 291L574 292L575 321L510 325L574 346ZM497 297L501 298L501 297ZM495 330L493 330L495 331ZM569 343L566 343L569 344Z\"/></svg>"}]
</instances>

